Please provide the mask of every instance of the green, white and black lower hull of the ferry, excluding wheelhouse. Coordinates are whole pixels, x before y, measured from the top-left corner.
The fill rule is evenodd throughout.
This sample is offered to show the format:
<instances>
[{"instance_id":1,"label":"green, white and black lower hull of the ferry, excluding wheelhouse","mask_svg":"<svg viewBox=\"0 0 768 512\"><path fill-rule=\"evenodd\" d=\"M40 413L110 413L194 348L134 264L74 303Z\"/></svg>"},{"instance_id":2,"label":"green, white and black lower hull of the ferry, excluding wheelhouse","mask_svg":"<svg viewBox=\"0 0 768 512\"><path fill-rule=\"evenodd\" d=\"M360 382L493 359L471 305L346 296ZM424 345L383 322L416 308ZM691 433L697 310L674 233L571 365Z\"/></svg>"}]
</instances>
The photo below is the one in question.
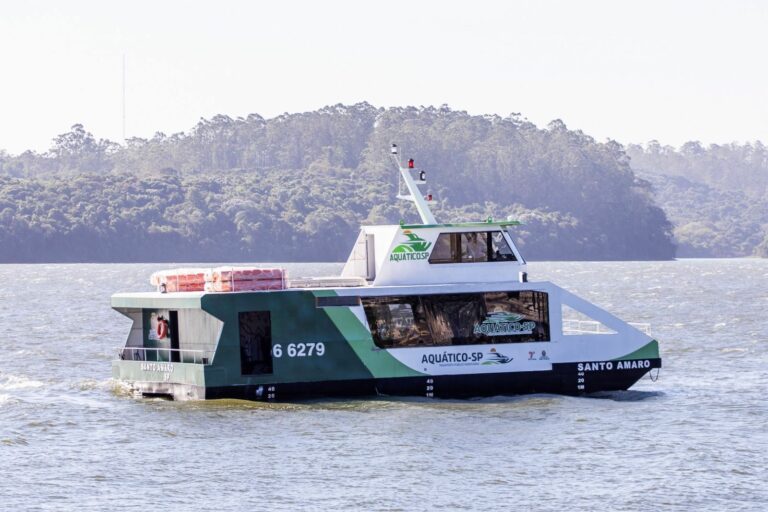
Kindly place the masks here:
<instances>
[{"instance_id":1,"label":"green, white and black lower hull of the ferry, excluding wheelhouse","mask_svg":"<svg viewBox=\"0 0 768 512\"><path fill-rule=\"evenodd\" d=\"M656 340L595 306L551 283L515 288L543 297L551 312L544 340L531 339L528 330L528 338L517 342L514 336L526 326L493 318L475 325L484 343L422 346L400 337L382 347L369 328L376 320L360 303L365 294L399 296L399 289L117 296L113 306L133 319L133 327L113 361L113 377L131 383L140 395L174 400L470 398L625 390L661 367ZM415 291L439 296L429 295L435 291L430 287ZM462 286L457 293L476 292ZM591 314L615 332L566 334L561 304ZM499 329L515 334L499 336ZM169 340L157 339L166 331ZM181 349L173 348L174 336Z\"/></svg>"}]
</instances>

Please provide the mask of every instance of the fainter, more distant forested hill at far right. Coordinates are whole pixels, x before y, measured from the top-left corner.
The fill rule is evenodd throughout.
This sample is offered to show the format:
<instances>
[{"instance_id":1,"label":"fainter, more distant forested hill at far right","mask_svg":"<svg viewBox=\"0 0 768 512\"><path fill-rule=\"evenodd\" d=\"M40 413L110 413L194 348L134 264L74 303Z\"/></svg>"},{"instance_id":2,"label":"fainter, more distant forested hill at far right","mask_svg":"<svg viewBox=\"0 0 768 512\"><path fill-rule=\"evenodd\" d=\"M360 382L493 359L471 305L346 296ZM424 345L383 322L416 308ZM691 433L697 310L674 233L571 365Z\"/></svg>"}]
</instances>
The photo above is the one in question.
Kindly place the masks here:
<instances>
[{"instance_id":1,"label":"fainter, more distant forested hill at far right","mask_svg":"<svg viewBox=\"0 0 768 512\"><path fill-rule=\"evenodd\" d=\"M639 176L674 224L678 256L768 257L768 148L688 142L630 145Z\"/></svg>"}]
</instances>

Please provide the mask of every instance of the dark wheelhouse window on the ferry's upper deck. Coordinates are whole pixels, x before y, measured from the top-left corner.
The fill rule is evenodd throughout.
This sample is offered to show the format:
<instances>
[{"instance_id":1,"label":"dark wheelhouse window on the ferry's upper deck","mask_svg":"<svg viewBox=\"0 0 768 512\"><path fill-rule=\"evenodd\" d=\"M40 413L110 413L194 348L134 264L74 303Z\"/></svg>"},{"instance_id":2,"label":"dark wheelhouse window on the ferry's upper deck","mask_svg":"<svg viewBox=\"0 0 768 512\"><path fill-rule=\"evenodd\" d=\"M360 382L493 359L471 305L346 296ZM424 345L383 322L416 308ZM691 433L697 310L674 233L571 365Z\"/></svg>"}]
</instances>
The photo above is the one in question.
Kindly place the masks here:
<instances>
[{"instance_id":1,"label":"dark wheelhouse window on the ferry's upper deck","mask_svg":"<svg viewBox=\"0 0 768 512\"><path fill-rule=\"evenodd\" d=\"M441 233L429 255L430 263L516 261L501 231Z\"/></svg>"}]
</instances>

